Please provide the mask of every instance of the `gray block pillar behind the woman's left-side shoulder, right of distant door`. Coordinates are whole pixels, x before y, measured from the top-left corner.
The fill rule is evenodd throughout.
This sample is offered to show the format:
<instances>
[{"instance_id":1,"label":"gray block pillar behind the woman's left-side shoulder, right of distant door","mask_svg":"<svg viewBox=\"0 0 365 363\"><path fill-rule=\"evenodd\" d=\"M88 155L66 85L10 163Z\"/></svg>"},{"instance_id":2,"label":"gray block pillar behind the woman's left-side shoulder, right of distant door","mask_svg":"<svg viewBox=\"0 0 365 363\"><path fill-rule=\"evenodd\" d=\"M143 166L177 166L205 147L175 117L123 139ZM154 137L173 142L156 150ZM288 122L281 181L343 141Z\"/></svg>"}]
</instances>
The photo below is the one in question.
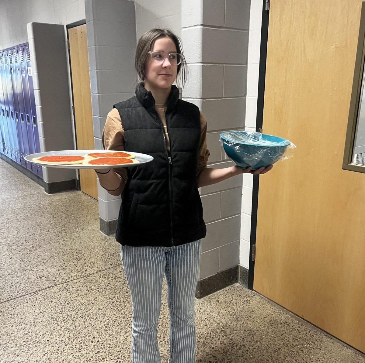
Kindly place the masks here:
<instances>
[{"instance_id":1,"label":"gray block pillar behind the woman's left-side shoulder, right of distant door","mask_svg":"<svg viewBox=\"0 0 365 363\"><path fill-rule=\"evenodd\" d=\"M86 0L86 27L95 148L108 113L117 102L134 95L136 73L135 5L128 0ZM98 180L100 225L118 218L121 198L110 195Z\"/></svg>"}]
</instances>

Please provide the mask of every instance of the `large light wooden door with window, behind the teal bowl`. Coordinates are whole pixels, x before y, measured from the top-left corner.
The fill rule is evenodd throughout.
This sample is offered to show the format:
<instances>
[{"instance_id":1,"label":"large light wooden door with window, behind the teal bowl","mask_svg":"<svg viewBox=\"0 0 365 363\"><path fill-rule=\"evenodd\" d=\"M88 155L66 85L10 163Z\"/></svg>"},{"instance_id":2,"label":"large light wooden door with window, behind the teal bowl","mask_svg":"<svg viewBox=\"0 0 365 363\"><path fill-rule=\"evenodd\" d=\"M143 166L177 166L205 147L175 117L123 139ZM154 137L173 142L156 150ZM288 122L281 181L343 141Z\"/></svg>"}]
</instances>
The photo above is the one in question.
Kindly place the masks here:
<instances>
[{"instance_id":1,"label":"large light wooden door with window, behind the teal bowl","mask_svg":"<svg viewBox=\"0 0 365 363\"><path fill-rule=\"evenodd\" d=\"M365 175L344 171L361 0L271 0L254 290L365 352Z\"/></svg>"}]
</instances>

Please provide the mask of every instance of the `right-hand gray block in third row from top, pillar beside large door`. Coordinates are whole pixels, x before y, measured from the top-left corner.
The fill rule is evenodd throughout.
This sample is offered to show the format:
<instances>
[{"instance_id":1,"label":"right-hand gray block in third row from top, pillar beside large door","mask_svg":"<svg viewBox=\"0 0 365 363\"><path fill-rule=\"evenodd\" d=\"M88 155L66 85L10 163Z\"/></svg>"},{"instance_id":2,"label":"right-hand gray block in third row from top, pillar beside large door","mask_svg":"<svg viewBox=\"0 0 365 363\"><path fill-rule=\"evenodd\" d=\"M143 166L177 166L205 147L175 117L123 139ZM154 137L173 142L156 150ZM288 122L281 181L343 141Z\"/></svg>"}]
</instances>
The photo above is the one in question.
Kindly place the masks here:
<instances>
[{"instance_id":1,"label":"right-hand gray block in third row from top, pillar beside large door","mask_svg":"<svg viewBox=\"0 0 365 363\"><path fill-rule=\"evenodd\" d=\"M247 66L224 66L224 97L246 95Z\"/></svg>"}]
</instances>

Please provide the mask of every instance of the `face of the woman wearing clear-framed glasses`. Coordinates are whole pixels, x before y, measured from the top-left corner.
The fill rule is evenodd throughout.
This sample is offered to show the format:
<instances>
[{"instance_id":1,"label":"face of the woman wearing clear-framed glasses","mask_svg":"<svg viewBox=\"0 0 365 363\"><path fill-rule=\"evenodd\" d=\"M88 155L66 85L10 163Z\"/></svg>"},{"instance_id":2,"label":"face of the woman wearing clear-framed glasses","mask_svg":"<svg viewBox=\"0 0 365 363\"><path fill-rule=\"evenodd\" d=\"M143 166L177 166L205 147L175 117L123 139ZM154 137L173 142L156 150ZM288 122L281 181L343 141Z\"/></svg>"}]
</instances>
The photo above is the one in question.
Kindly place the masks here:
<instances>
[{"instance_id":1,"label":"face of the woman wearing clear-framed glasses","mask_svg":"<svg viewBox=\"0 0 365 363\"><path fill-rule=\"evenodd\" d=\"M176 46L171 38L160 38L154 42L151 51L164 52L168 55L169 53L176 53ZM160 59L153 61L149 55L144 81L153 88L168 89L176 79L177 65L172 65L168 56L163 61L162 58Z\"/></svg>"}]
</instances>

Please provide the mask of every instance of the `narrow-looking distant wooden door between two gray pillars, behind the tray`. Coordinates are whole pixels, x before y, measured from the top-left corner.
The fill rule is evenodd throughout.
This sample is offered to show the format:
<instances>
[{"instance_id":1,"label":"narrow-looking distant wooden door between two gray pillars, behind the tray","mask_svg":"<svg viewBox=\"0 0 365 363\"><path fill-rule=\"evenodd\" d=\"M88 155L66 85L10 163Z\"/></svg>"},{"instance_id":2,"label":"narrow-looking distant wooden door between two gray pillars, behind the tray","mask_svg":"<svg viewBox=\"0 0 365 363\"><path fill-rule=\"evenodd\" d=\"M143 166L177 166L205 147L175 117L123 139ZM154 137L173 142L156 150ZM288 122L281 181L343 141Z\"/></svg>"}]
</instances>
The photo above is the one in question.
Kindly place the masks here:
<instances>
[{"instance_id":1,"label":"narrow-looking distant wooden door between two gray pillars, behind the tray","mask_svg":"<svg viewBox=\"0 0 365 363\"><path fill-rule=\"evenodd\" d=\"M86 24L68 30L77 149L95 149ZM98 199L95 171L80 170L81 191Z\"/></svg>"}]
</instances>

